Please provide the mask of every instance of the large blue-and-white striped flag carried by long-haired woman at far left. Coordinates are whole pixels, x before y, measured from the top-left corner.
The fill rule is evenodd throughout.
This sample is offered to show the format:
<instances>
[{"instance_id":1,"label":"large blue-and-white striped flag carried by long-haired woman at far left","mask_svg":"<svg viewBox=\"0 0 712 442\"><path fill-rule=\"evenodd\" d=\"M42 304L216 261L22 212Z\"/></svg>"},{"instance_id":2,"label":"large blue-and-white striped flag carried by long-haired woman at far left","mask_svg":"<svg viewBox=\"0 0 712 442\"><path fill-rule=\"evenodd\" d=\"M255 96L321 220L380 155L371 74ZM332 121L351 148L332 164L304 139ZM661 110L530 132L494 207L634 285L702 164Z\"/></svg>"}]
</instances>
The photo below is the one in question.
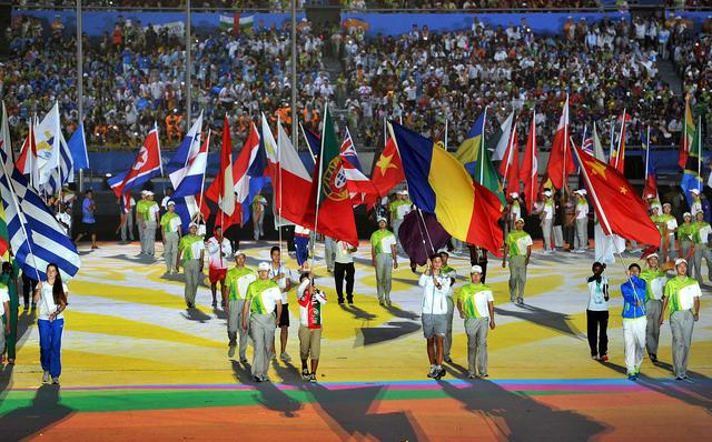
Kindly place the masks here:
<instances>
[{"instance_id":1,"label":"large blue-and-white striped flag carried by long-haired woman at far left","mask_svg":"<svg viewBox=\"0 0 712 442\"><path fill-rule=\"evenodd\" d=\"M40 197L12 163L7 132L7 113L2 112L0 137L0 195L7 221L9 243L22 272L31 278L47 279L47 264L57 264L62 278L70 279L80 267L79 253L65 229ZM6 150L7 149L7 150Z\"/></svg>"}]
</instances>

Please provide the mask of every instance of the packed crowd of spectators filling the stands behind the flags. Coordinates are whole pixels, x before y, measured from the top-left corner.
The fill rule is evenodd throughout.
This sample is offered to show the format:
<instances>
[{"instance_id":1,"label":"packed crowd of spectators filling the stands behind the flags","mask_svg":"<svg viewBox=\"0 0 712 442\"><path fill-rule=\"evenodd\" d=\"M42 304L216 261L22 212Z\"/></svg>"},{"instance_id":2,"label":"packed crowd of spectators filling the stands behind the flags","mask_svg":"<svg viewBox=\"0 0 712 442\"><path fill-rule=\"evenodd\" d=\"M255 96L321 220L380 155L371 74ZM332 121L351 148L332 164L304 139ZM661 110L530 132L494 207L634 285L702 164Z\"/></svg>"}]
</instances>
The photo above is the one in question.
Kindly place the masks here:
<instances>
[{"instance_id":1,"label":"packed crowd of spectators filling the stands behind the flags","mask_svg":"<svg viewBox=\"0 0 712 442\"><path fill-rule=\"evenodd\" d=\"M676 63L684 89L693 92L693 106L702 109L710 102L710 39L684 20L590 24L570 19L562 34L540 36L525 18L506 28L475 19L469 30L437 33L414 26L398 38L366 38L358 27L339 30L301 21L298 36L299 118L317 129L324 102L333 100L364 145L378 144L384 117L403 118L431 137L447 120L449 144L455 145L488 106L500 122L516 110L523 138L535 109L540 145L546 149L566 90L574 137L596 121L607 139L625 108L632 119L629 143L639 142L650 123L653 143L676 144L684 99L661 80L657 64L663 58ZM77 124L72 31L59 20L46 26L23 16L13 19L6 37L12 56L0 67L0 92L13 139L22 139L27 119L55 100L71 132ZM288 42L286 24L249 34L198 36L194 114L205 110L207 123L219 134L227 112L237 140L246 137L250 115L259 111L289 124ZM120 19L111 33L85 37L83 47L90 145L136 145L154 121L164 141L176 144L187 130L182 36ZM327 72L325 57L332 53L342 61L342 73Z\"/></svg>"}]
</instances>

